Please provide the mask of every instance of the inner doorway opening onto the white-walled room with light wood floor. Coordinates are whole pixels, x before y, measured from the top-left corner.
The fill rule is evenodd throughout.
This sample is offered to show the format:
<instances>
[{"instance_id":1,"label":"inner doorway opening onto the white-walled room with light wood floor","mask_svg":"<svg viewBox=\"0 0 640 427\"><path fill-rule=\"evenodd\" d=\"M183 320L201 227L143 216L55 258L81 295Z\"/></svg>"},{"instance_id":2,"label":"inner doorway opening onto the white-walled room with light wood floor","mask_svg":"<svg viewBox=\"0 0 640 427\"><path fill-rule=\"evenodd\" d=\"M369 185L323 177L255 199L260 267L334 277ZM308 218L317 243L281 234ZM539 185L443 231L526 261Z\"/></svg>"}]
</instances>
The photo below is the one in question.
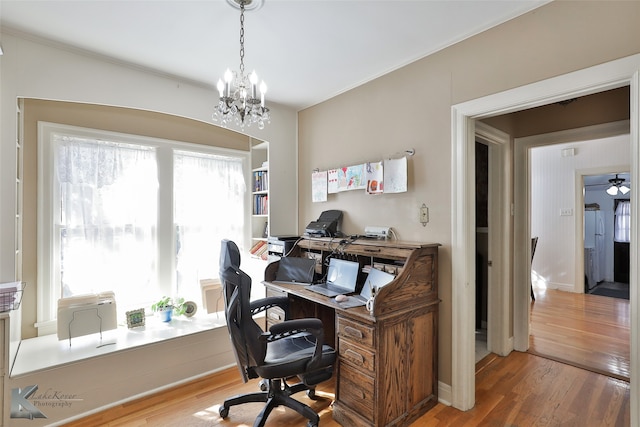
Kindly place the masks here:
<instances>
[{"instance_id":1,"label":"inner doorway opening onto the white-walled room with light wood floor","mask_svg":"<svg viewBox=\"0 0 640 427\"><path fill-rule=\"evenodd\" d=\"M613 253L614 207L605 174L628 170L628 126L625 120L515 142L528 152L531 232L542 242L532 263L539 289L528 351L626 381L628 301L597 302L601 297L584 293L613 278L612 267L605 268L606 253Z\"/></svg>"}]
</instances>

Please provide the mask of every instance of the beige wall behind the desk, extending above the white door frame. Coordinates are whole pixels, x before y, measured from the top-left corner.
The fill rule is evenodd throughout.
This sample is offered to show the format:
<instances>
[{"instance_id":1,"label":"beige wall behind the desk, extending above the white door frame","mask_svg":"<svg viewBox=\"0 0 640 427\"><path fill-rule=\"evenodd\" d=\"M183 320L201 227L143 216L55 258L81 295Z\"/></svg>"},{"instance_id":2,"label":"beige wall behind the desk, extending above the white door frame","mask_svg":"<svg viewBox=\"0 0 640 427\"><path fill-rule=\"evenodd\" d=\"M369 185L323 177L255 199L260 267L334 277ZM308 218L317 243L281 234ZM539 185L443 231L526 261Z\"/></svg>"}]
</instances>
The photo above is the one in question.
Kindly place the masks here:
<instances>
[{"instance_id":1,"label":"beige wall behind the desk, extending above the white door frame","mask_svg":"<svg viewBox=\"0 0 640 427\"><path fill-rule=\"evenodd\" d=\"M385 225L439 242L439 375L451 384L451 106L640 52L640 2L553 2L299 113L299 224L327 209L343 230ZM409 191L311 202L311 172L413 147ZM430 222L418 222L418 207ZM302 230L300 230L302 231Z\"/></svg>"}]
</instances>

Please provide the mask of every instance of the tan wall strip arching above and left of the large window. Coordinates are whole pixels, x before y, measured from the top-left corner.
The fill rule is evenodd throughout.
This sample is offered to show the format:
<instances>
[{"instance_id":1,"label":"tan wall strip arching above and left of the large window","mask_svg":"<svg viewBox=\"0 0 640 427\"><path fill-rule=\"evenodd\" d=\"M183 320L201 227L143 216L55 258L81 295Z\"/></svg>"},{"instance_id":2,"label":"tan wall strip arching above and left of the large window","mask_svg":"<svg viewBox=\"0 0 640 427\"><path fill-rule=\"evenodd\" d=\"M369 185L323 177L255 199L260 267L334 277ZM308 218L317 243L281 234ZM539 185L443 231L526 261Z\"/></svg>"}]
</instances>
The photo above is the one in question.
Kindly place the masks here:
<instances>
[{"instance_id":1,"label":"tan wall strip arching above and left of the large window","mask_svg":"<svg viewBox=\"0 0 640 427\"><path fill-rule=\"evenodd\" d=\"M22 279L32 284L25 289L22 311L22 338L37 335L37 149L38 121L103 129L174 141L249 150L249 137L215 125L169 114L131 108L108 107L73 102L26 99L24 112L24 195Z\"/></svg>"}]
</instances>

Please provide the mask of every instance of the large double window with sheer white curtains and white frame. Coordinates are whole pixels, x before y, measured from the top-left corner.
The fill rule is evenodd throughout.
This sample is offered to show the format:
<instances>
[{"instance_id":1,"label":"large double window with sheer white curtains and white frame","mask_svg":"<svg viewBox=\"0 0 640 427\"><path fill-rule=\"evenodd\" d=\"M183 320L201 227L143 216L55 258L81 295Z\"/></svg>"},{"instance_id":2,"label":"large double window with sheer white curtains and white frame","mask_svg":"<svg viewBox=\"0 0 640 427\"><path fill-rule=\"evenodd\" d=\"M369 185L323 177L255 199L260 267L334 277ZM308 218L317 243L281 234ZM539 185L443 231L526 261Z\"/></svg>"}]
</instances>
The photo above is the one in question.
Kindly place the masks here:
<instances>
[{"instance_id":1,"label":"large double window with sheer white curtains and white frame","mask_svg":"<svg viewBox=\"0 0 640 427\"><path fill-rule=\"evenodd\" d=\"M162 295L200 305L220 239L244 241L248 154L44 123L39 135L38 326L59 298L107 290L120 313Z\"/></svg>"}]
</instances>

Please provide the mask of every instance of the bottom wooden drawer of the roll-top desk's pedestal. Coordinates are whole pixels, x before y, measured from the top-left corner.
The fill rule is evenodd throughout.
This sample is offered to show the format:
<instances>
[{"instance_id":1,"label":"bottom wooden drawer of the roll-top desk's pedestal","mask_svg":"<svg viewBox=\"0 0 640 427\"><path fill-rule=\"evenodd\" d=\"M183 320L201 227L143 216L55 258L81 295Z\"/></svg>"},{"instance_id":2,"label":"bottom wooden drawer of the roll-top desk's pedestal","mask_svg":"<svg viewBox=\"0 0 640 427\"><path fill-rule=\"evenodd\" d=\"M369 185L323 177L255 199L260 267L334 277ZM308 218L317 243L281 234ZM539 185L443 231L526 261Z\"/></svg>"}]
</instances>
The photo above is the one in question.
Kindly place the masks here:
<instances>
[{"instance_id":1,"label":"bottom wooden drawer of the roll-top desk's pedestal","mask_svg":"<svg viewBox=\"0 0 640 427\"><path fill-rule=\"evenodd\" d=\"M373 423L374 379L358 369L340 362L338 400Z\"/></svg>"}]
</instances>

